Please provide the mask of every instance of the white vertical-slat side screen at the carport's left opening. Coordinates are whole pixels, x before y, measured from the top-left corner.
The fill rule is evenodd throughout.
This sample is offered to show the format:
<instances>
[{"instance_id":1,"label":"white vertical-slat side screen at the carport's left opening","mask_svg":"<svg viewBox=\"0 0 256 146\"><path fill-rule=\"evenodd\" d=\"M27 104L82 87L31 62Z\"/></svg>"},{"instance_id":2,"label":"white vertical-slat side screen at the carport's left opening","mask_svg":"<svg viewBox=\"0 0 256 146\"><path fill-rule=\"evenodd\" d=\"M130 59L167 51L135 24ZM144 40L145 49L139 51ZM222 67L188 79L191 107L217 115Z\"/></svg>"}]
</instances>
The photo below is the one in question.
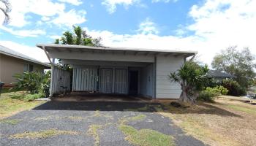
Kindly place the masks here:
<instances>
[{"instance_id":1,"label":"white vertical-slat side screen at the carport's left opening","mask_svg":"<svg viewBox=\"0 0 256 146\"><path fill-rule=\"evenodd\" d=\"M70 75L70 72L59 69L57 66L52 66L50 96L53 96L54 93L70 91Z\"/></svg>"}]
</instances>

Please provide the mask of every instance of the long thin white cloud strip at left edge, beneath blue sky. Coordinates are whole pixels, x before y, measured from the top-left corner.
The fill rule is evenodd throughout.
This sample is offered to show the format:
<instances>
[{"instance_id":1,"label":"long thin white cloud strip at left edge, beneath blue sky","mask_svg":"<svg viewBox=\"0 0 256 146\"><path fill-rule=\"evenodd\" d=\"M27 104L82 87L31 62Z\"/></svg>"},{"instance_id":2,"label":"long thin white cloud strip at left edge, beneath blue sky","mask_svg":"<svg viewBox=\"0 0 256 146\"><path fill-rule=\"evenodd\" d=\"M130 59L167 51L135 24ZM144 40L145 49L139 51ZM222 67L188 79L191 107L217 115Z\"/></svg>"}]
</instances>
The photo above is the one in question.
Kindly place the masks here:
<instances>
[{"instance_id":1,"label":"long thin white cloud strip at left edge, beneath blue sky","mask_svg":"<svg viewBox=\"0 0 256 146\"><path fill-rule=\"evenodd\" d=\"M4 31L9 32L10 34L13 34L18 37L38 37L39 35L46 34L45 31L40 29L34 29L34 30L13 30L12 28L7 28L5 26L0 26L0 28Z\"/></svg>"}]
</instances>

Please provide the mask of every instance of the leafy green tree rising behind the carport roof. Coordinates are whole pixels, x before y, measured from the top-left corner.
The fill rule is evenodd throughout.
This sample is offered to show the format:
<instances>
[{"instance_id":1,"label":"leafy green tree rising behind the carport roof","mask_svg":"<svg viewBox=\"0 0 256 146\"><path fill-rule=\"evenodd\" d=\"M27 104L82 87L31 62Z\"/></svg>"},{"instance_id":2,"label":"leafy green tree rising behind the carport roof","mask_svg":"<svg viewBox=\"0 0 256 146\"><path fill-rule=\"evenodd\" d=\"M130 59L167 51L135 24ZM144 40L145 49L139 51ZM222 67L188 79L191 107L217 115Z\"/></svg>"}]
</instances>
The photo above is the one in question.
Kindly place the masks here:
<instances>
[{"instance_id":1,"label":"leafy green tree rising behind the carport roof","mask_svg":"<svg viewBox=\"0 0 256 146\"><path fill-rule=\"evenodd\" d=\"M55 40L55 44L102 46L101 41L100 37L94 39L89 34L86 34L86 31L83 31L80 26L73 26L73 32L64 32L61 39Z\"/></svg>"}]
</instances>

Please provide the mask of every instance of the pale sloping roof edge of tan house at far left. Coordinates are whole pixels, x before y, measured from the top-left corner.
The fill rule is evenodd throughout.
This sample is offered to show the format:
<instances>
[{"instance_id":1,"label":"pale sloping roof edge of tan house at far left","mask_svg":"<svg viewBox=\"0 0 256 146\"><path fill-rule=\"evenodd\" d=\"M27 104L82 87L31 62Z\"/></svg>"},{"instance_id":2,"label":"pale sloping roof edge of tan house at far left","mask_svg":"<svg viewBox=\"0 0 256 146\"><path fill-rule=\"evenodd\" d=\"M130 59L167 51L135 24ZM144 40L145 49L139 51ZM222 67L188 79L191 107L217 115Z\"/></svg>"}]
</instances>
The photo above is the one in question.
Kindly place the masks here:
<instances>
[{"instance_id":1,"label":"pale sloping roof edge of tan house at far left","mask_svg":"<svg viewBox=\"0 0 256 146\"><path fill-rule=\"evenodd\" d=\"M50 67L50 64L45 64L45 63L43 63L41 61L37 61L34 58L31 58L31 57L29 57L27 55L24 55L22 53L18 53L15 50L12 50L12 49L10 49L8 47L4 47L2 45L0 45L0 54L9 55L9 56L12 56L14 58L19 58L19 59L22 59L24 61L32 62L34 64L40 64L42 66Z\"/></svg>"}]
</instances>

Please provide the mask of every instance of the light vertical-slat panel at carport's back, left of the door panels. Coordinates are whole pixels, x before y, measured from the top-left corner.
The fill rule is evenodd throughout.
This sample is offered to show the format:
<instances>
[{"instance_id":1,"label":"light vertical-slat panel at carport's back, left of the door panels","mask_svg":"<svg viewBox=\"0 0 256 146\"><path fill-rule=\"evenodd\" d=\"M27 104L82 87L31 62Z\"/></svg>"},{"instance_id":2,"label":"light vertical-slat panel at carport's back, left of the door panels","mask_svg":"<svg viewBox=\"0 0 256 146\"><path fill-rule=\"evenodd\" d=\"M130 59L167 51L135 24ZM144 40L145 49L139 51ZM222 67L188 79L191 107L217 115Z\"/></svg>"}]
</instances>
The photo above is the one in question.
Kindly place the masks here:
<instances>
[{"instance_id":1,"label":"light vertical-slat panel at carport's back, left of the door panels","mask_svg":"<svg viewBox=\"0 0 256 146\"><path fill-rule=\"evenodd\" d=\"M97 91L97 67L73 69L73 91Z\"/></svg>"}]
</instances>

